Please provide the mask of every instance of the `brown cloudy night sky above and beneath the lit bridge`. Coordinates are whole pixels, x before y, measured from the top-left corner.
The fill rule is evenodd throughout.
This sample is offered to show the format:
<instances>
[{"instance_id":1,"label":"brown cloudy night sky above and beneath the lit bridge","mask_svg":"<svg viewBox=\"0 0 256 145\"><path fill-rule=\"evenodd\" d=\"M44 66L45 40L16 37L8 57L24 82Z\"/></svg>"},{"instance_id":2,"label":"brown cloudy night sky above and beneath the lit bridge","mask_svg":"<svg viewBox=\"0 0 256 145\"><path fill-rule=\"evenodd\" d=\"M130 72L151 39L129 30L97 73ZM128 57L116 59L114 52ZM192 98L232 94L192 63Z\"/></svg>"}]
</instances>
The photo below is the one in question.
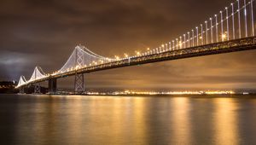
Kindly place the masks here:
<instances>
[{"instance_id":1,"label":"brown cloudy night sky above and beneath the lit bridge","mask_svg":"<svg viewBox=\"0 0 256 145\"><path fill-rule=\"evenodd\" d=\"M155 48L207 20L230 0L1 0L0 80L61 68L77 44L113 57ZM89 89L255 89L256 51L85 74ZM73 78L59 79L73 88Z\"/></svg>"}]
</instances>

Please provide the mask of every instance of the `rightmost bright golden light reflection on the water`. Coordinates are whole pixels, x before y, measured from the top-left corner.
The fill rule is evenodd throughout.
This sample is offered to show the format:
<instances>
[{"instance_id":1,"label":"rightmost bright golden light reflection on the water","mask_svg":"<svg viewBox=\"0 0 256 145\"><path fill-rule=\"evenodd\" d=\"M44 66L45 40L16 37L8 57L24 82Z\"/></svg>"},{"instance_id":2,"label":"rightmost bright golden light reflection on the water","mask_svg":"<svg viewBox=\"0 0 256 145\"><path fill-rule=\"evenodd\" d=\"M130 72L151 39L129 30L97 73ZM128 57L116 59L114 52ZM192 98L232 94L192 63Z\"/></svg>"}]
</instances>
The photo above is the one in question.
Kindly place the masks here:
<instances>
[{"instance_id":1,"label":"rightmost bright golden light reflection on the water","mask_svg":"<svg viewBox=\"0 0 256 145\"><path fill-rule=\"evenodd\" d=\"M230 98L218 98L215 101L214 129L215 140L218 145L239 144L237 128L237 103Z\"/></svg>"}]
</instances>

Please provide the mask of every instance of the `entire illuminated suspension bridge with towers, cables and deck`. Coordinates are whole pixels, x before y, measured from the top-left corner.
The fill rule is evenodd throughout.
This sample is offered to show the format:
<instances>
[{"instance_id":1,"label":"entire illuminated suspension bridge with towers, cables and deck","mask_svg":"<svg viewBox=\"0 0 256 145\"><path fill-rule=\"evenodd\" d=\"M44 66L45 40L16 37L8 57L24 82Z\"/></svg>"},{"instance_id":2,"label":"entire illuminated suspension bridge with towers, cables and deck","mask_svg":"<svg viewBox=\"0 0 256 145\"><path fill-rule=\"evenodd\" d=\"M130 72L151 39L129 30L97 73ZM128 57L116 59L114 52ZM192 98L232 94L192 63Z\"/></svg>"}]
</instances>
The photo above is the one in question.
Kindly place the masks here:
<instances>
[{"instance_id":1,"label":"entire illuminated suspension bridge with towers, cables and deck","mask_svg":"<svg viewBox=\"0 0 256 145\"><path fill-rule=\"evenodd\" d=\"M40 67L35 67L32 77L26 80L20 77L17 88L24 92L24 87L35 86L35 93L40 93L40 83L49 81L49 92L55 93L57 78L75 76L74 91L84 91L84 73L91 73L117 67L128 67L158 61L170 61L202 55L215 55L248 49L256 49L254 32L254 0L236 0L199 26L183 33L160 47L137 55L125 55L114 58L97 55L82 45L75 47L73 53L60 70L46 74Z\"/></svg>"}]
</instances>

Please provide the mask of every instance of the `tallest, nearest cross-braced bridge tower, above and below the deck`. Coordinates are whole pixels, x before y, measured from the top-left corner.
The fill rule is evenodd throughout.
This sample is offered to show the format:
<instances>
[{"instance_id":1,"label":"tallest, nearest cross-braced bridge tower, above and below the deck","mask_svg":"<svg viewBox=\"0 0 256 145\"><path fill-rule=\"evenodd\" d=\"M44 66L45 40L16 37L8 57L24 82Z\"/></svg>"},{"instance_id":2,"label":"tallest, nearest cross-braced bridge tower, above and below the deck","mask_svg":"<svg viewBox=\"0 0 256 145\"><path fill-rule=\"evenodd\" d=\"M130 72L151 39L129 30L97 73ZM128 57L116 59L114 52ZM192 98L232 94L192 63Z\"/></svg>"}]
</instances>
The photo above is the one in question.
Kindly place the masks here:
<instances>
[{"instance_id":1,"label":"tallest, nearest cross-braced bridge tower, above and below the deck","mask_svg":"<svg viewBox=\"0 0 256 145\"><path fill-rule=\"evenodd\" d=\"M75 66L76 69L84 67L84 53L80 46L77 46L75 49ZM75 93L82 93L84 92L84 73L78 73L76 71L75 74L75 81L74 81L74 91Z\"/></svg>"}]
</instances>

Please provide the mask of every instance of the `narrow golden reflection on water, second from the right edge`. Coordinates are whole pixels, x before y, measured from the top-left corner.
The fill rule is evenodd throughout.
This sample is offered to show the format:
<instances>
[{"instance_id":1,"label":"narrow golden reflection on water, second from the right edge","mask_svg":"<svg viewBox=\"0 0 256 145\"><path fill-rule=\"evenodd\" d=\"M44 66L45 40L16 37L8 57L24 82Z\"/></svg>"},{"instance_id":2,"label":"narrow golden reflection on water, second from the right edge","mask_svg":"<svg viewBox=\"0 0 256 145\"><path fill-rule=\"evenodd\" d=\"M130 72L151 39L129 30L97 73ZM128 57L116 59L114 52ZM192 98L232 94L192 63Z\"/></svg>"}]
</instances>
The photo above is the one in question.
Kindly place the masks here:
<instances>
[{"instance_id":1,"label":"narrow golden reflection on water, second from the right edge","mask_svg":"<svg viewBox=\"0 0 256 145\"><path fill-rule=\"evenodd\" d=\"M189 98L177 97L171 100L172 109L172 121L171 127L175 126L172 135L172 140L174 144L186 144L191 142L191 126L189 123Z\"/></svg>"}]
</instances>

